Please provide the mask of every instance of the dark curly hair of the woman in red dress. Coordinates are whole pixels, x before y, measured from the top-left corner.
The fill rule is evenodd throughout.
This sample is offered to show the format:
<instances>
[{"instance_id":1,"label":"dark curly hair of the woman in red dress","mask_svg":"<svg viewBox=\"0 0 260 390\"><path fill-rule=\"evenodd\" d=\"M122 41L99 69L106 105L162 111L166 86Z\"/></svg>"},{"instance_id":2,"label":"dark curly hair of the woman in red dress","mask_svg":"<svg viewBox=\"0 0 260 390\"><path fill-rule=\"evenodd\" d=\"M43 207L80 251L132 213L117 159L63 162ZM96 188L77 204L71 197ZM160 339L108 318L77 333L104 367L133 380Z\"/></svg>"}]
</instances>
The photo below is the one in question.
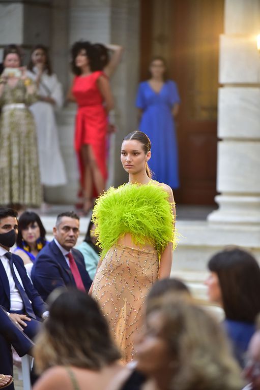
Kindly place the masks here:
<instances>
[{"instance_id":1,"label":"dark curly hair of the woman in red dress","mask_svg":"<svg viewBox=\"0 0 260 390\"><path fill-rule=\"evenodd\" d=\"M98 50L95 49L89 41L77 41L71 47L71 69L74 75L81 75L81 70L76 66L76 57L81 50L85 50L86 56L89 59L89 66L91 72L95 72L101 69L100 56Z\"/></svg>"}]
</instances>

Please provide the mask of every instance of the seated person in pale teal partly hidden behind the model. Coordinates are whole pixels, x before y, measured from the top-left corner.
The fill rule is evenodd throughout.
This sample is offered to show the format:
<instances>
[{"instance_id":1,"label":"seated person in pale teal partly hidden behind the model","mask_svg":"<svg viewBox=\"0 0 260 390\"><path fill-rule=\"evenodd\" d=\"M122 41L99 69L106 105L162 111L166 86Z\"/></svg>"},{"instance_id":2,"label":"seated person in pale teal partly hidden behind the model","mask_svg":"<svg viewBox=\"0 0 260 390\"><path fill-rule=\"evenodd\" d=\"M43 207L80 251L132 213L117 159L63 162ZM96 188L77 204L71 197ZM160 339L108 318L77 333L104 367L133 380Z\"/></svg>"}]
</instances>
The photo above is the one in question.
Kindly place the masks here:
<instances>
[{"instance_id":1,"label":"seated person in pale teal partly hidden behind the model","mask_svg":"<svg viewBox=\"0 0 260 390\"><path fill-rule=\"evenodd\" d=\"M92 216L91 216L92 218ZM99 246L97 245L97 239L94 236L95 225L90 219L88 230L86 231L83 242L77 246L77 249L82 253L84 257L85 267L88 271L90 278L93 280L98 262L99 262Z\"/></svg>"}]
</instances>

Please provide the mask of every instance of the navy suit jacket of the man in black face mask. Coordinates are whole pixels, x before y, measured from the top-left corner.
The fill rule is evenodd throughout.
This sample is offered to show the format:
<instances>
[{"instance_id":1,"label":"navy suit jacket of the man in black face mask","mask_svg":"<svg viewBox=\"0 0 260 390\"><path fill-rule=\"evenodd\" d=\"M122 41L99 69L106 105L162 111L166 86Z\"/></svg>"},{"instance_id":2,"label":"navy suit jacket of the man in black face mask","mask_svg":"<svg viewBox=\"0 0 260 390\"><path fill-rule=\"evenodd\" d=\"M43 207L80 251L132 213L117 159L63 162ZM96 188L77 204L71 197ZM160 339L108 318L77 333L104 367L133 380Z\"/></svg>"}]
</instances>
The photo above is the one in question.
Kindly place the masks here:
<instances>
[{"instance_id":1,"label":"navy suit jacket of the man in black face mask","mask_svg":"<svg viewBox=\"0 0 260 390\"><path fill-rule=\"evenodd\" d=\"M13 264L15 265L28 298L32 302L34 312L37 317L41 318L41 315L48 310L46 304L43 302L42 298L34 288L31 280L28 278L26 269L24 268L23 261L20 256L17 254L12 255ZM6 311L10 311L10 285L6 270L0 261L0 305L3 306Z\"/></svg>"}]
</instances>

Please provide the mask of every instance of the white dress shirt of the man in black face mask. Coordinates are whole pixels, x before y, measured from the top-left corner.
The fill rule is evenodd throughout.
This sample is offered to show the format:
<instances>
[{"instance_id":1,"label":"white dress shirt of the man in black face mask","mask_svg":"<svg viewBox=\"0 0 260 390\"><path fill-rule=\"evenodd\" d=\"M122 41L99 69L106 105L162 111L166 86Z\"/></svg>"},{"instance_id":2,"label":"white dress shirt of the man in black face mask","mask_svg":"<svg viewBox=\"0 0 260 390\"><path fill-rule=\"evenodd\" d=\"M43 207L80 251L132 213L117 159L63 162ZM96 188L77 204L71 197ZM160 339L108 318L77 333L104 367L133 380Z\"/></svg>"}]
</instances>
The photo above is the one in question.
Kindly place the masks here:
<instances>
[{"instance_id":1,"label":"white dress shirt of the man in black face mask","mask_svg":"<svg viewBox=\"0 0 260 390\"><path fill-rule=\"evenodd\" d=\"M20 296L19 291L16 288L13 274L11 271L11 267L9 264L9 260L5 256L6 252L7 252L7 250L2 248L2 246L0 246L0 260L5 268L5 271L6 271L6 274L8 277L8 281L9 281L9 286L10 286L10 310L22 310L23 309L22 298ZM15 272L15 275L17 276L17 279L19 280L21 286L23 287L21 277L20 277L15 265L14 265L14 272Z\"/></svg>"}]
</instances>

